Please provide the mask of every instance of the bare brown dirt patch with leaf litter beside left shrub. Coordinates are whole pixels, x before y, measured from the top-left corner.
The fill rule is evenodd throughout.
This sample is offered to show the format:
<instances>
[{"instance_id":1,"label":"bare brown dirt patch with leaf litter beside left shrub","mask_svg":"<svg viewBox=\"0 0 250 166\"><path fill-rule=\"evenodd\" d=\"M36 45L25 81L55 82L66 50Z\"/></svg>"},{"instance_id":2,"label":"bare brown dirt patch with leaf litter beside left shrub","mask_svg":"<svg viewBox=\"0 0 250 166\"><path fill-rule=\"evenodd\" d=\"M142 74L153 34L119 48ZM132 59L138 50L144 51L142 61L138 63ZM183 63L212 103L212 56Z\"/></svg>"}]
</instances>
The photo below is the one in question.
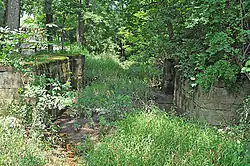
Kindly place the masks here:
<instances>
[{"instance_id":1,"label":"bare brown dirt patch with leaf litter beside left shrub","mask_svg":"<svg viewBox=\"0 0 250 166\"><path fill-rule=\"evenodd\" d=\"M85 165L82 157L77 156L77 146L90 139L92 143L98 143L100 137L97 117L93 117L94 124L89 123L82 117L72 117L66 110L55 122L60 126L59 136L61 142L54 145L52 155L49 157L47 166L76 166Z\"/></svg>"}]
</instances>

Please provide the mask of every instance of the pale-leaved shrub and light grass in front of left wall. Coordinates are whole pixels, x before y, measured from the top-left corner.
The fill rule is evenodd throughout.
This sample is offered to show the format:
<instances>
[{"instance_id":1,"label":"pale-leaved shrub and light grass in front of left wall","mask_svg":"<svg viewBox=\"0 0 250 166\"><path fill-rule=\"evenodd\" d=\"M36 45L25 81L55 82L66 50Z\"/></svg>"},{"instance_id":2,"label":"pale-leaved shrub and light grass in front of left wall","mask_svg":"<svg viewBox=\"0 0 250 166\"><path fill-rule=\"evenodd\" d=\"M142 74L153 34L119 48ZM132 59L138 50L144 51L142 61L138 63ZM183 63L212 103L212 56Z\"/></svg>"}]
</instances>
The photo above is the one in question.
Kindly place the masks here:
<instances>
[{"instance_id":1,"label":"pale-leaved shrub and light grass in front of left wall","mask_svg":"<svg viewBox=\"0 0 250 166\"><path fill-rule=\"evenodd\" d=\"M19 89L19 103L1 112L0 165L45 165L48 147L60 140L53 121L72 106L74 93L68 91L69 83L44 76L30 79Z\"/></svg>"}]
</instances>

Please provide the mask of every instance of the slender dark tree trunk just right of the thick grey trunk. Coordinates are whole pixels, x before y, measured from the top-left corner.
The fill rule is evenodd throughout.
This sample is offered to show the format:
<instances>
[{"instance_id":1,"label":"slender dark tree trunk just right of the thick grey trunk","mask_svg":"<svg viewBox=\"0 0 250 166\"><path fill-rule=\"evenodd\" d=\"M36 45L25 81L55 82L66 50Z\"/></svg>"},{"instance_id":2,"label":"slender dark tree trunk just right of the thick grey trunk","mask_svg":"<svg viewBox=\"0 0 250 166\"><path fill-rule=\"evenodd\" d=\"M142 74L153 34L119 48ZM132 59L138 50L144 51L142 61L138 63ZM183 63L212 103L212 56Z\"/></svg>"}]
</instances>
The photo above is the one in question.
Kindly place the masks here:
<instances>
[{"instance_id":1,"label":"slender dark tree trunk just right of the thick grey trunk","mask_svg":"<svg viewBox=\"0 0 250 166\"><path fill-rule=\"evenodd\" d=\"M53 27L48 26L53 22L53 14L52 14L52 0L45 0L45 13L46 13L46 34L48 44L48 51L53 51L53 45L50 43L53 41Z\"/></svg>"}]
</instances>

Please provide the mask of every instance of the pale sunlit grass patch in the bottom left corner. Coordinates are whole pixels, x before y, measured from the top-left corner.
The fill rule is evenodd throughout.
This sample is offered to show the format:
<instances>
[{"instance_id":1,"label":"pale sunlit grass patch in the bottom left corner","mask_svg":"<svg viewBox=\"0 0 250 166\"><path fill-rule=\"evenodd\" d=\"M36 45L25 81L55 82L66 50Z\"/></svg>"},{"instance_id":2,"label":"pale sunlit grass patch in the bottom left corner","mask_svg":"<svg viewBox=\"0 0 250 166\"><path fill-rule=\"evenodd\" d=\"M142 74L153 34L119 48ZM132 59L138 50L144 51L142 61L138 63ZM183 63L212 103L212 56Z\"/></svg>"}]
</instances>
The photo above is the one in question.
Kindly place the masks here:
<instances>
[{"instance_id":1,"label":"pale sunlit grass patch in the bottom left corner","mask_svg":"<svg viewBox=\"0 0 250 166\"><path fill-rule=\"evenodd\" d=\"M0 117L0 165L45 165L42 146L34 137L27 138L17 118Z\"/></svg>"}]
</instances>

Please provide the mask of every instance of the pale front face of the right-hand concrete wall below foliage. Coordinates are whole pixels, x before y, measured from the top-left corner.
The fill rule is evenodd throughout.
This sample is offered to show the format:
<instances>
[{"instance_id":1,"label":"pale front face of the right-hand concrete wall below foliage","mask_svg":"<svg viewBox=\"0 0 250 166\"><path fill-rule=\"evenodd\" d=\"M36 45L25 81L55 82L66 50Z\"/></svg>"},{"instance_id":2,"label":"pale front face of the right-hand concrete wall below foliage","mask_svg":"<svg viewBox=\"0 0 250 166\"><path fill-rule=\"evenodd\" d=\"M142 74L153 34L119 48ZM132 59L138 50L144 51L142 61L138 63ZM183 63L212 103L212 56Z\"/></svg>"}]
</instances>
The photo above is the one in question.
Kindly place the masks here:
<instances>
[{"instance_id":1,"label":"pale front face of the right-hand concrete wall below foliage","mask_svg":"<svg viewBox=\"0 0 250 166\"><path fill-rule=\"evenodd\" d=\"M212 86L209 91L198 87L193 94L194 107L189 107L188 110L191 110L191 116L214 125L230 123L237 119L237 110L242 107L243 100L249 94L248 80L233 92L221 86Z\"/></svg>"}]
</instances>

